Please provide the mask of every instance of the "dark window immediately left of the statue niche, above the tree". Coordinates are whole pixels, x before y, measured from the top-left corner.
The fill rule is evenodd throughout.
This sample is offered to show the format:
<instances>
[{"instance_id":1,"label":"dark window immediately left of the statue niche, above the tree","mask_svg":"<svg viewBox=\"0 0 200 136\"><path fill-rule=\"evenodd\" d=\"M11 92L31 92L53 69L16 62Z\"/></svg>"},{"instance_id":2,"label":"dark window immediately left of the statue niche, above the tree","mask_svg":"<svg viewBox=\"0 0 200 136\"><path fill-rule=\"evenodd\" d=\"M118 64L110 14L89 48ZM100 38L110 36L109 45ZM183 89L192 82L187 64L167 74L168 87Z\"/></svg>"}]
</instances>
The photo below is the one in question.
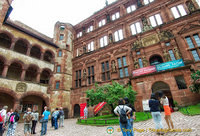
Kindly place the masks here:
<instances>
[{"instance_id":1,"label":"dark window immediately left of the statue niche, above the tree","mask_svg":"<svg viewBox=\"0 0 200 136\"><path fill-rule=\"evenodd\" d=\"M109 62L101 63L102 81L110 80Z\"/></svg>"}]
</instances>

